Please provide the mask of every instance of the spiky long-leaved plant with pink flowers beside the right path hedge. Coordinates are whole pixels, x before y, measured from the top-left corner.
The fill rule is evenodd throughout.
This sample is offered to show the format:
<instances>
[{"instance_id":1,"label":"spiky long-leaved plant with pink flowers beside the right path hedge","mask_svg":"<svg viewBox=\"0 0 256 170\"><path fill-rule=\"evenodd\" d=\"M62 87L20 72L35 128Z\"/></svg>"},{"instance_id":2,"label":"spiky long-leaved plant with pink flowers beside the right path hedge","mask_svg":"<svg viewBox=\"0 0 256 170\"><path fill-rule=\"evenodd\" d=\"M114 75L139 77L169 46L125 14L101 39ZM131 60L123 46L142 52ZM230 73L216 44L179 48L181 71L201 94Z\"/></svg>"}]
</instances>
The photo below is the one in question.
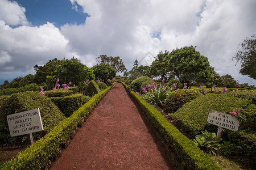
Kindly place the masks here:
<instances>
[{"instance_id":1,"label":"spiky long-leaved plant with pink flowers beside the right path hedge","mask_svg":"<svg viewBox=\"0 0 256 170\"><path fill-rule=\"evenodd\" d=\"M150 104L164 107L168 94L173 90L173 87L166 86L166 84L156 85L155 83L148 83L146 87L142 87L142 91L144 92L142 98Z\"/></svg>"}]
</instances>

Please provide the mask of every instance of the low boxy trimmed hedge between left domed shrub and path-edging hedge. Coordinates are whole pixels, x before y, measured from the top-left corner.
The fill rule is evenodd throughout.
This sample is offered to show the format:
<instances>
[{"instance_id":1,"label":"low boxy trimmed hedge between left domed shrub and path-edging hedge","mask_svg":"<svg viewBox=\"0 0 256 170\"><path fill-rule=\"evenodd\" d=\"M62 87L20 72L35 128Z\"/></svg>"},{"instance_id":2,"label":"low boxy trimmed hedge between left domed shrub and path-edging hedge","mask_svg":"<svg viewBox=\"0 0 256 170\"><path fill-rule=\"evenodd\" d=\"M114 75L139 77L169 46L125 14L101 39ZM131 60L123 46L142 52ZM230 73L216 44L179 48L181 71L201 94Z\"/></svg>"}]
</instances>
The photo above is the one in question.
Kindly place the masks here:
<instances>
[{"instance_id":1,"label":"low boxy trimmed hedge between left domed shrub and path-edging hedge","mask_svg":"<svg viewBox=\"0 0 256 170\"><path fill-rule=\"evenodd\" d=\"M90 97L83 96L82 94L73 94L65 97L51 97L52 102L60 109L65 117L71 114L85 104Z\"/></svg>"}]
</instances>

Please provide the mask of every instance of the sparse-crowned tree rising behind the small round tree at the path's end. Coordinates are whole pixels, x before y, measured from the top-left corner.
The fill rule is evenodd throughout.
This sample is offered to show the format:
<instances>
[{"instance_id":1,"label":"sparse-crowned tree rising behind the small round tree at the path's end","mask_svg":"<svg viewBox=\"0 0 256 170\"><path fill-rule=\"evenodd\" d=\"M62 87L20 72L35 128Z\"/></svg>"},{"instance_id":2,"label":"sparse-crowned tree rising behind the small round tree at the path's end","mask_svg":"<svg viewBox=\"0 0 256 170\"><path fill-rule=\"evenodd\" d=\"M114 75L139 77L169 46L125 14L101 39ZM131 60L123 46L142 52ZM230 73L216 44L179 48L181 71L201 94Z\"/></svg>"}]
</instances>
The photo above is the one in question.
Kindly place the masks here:
<instances>
[{"instance_id":1,"label":"sparse-crowned tree rising behind the small round tree at the path's end","mask_svg":"<svg viewBox=\"0 0 256 170\"><path fill-rule=\"evenodd\" d=\"M126 70L125 65L122 62L122 59L117 56L117 57L112 57L112 56L106 56L106 55L100 55L100 57L97 57L96 59L99 59L100 61L98 63L105 63L109 64L113 69L118 73L118 72L123 72Z\"/></svg>"}]
</instances>

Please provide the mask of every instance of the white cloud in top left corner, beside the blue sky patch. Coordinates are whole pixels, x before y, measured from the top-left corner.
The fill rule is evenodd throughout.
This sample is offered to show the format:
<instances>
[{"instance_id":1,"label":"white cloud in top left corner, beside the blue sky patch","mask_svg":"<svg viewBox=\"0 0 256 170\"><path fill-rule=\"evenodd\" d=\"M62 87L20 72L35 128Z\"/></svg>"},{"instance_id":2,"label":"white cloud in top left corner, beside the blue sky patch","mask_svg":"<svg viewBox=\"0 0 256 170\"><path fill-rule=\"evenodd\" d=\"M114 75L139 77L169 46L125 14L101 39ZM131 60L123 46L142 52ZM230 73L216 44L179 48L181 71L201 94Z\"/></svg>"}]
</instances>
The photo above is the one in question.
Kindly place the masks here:
<instances>
[{"instance_id":1,"label":"white cloud in top left corner, beside the blue sky patch","mask_svg":"<svg viewBox=\"0 0 256 170\"><path fill-rule=\"evenodd\" d=\"M25 8L15 1L0 0L0 20L8 25L27 25L25 11Z\"/></svg>"}]
</instances>

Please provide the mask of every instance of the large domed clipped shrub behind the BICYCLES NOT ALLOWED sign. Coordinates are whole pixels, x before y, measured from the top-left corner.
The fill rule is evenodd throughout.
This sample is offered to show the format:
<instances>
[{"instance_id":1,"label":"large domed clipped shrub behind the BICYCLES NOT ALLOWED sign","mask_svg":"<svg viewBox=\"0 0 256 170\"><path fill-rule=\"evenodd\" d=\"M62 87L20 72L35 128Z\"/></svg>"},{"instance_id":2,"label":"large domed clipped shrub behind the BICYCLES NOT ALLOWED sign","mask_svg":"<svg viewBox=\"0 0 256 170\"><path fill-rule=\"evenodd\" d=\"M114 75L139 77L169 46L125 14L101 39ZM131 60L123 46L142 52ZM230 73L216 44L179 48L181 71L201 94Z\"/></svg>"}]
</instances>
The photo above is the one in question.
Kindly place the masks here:
<instances>
[{"instance_id":1,"label":"large domed clipped shrub behind the BICYCLES NOT ALLOWED sign","mask_svg":"<svg viewBox=\"0 0 256 170\"><path fill-rule=\"evenodd\" d=\"M39 108L42 117L44 131L33 133L34 138L41 138L65 119L63 113L49 100L48 97L39 92L24 92L13 94L1 100L0 107L0 139L4 142L16 143L22 141L22 136L11 137L6 116L9 114L29 111Z\"/></svg>"}]
</instances>

